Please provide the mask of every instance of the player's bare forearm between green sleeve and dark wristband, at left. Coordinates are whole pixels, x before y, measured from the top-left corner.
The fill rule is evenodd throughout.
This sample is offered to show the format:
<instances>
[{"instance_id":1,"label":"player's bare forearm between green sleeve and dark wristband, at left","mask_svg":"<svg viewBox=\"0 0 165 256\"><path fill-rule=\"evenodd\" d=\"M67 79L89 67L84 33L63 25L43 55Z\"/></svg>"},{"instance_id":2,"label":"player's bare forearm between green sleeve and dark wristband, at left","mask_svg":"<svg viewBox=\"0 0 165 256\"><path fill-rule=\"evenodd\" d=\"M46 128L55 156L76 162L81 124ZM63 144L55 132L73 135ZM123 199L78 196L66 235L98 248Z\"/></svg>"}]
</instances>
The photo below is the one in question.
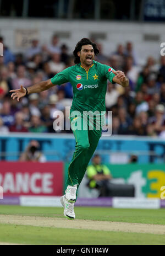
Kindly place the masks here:
<instances>
[{"instance_id":1,"label":"player's bare forearm between green sleeve and dark wristband, at left","mask_svg":"<svg viewBox=\"0 0 165 256\"><path fill-rule=\"evenodd\" d=\"M43 90L48 90L52 86L54 86L54 84L52 84L51 79L49 79L47 81L36 83L33 86L27 87L27 92L28 92L28 94L30 94L30 93L40 93Z\"/></svg>"}]
</instances>

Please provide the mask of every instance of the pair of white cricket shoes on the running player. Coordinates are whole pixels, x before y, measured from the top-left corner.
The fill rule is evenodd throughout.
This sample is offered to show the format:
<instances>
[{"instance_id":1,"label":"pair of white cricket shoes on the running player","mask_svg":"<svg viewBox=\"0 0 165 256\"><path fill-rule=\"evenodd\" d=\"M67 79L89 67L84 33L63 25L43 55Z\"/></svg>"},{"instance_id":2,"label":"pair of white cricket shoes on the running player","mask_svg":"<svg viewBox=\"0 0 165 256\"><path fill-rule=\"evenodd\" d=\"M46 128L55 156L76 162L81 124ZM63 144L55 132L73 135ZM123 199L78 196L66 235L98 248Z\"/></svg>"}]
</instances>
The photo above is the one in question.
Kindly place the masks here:
<instances>
[{"instance_id":1,"label":"pair of white cricket shoes on the running player","mask_svg":"<svg viewBox=\"0 0 165 256\"><path fill-rule=\"evenodd\" d=\"M75 218L74 202L76 200L77 185L67 186L65 195L60 199L62 206L64 207L64 216L68 218Z\"/></svg>"}]
</instances>

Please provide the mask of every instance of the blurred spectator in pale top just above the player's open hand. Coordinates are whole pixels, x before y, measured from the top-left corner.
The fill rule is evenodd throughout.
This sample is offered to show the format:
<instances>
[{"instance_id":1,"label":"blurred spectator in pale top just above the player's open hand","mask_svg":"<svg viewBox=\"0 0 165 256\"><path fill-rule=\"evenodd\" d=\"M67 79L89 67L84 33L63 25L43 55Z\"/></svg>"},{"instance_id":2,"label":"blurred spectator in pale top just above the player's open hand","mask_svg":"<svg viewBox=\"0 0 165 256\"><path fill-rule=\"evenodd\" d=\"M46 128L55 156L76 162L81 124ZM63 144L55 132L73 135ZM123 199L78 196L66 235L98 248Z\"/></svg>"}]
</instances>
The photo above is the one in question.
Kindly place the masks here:
<instances>
[{"instance_id":1,"label":"blurred spectator in pale top just above the player's open hand","mask_svg":"<svg viewBox=\"0 0 165 256\"><path fill-rule=\"evenodd\" d=\"M12 80L13 89L19 89L21 84L23 84L24 87L30 86L30 84L31 84L31 80L26 78L25 66L18 66L17 78L14 78Z\"/></svg>"}]
</instances>

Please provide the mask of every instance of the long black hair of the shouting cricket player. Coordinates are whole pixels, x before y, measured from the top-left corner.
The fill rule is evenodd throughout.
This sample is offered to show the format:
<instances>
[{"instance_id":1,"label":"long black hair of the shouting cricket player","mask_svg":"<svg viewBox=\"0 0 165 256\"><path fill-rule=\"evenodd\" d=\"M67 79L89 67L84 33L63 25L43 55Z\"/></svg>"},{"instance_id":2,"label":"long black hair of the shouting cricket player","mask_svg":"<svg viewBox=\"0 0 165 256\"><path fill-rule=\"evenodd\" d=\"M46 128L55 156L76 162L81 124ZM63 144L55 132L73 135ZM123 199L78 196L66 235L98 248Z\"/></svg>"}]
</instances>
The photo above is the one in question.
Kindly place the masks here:
<instances>
[{"instance_id":1,"label":"long black hair of the shouting cricket player","mask_svg":"<svg viewBox=\"0 0 165 256\"><path fill-rule=\"evenodd\" d=\"M95 42L92 42L88 38L83 38L76 44L76 47L73 51L73 55L75 57L75 60L74 60L75 64L80 63L80 57L78 56L78 52L81 51L81 48L83 45L92 45L94 48L95 55L99 53L99 50L97 49L97 45L95 44Z\"/></svg>"}]
</instances>

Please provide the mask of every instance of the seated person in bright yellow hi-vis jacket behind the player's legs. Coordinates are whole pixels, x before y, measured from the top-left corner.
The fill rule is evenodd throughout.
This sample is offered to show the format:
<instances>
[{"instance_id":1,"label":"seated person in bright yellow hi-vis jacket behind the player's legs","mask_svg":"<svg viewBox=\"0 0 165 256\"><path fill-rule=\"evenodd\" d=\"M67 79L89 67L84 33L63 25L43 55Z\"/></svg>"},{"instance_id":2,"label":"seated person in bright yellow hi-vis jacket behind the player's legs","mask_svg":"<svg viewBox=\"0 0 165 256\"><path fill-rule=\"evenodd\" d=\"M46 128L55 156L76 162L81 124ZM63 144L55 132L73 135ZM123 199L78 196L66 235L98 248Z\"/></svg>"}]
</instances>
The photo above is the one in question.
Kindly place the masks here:
<instances>
[{"instance_id":1,"label":"seated person in bright yellow hi-vis jacket behind the player's legs","mask_svg":"<svg viewBox=\"0 0 165 256\"><path fill-rule=\"evenodd\" d=\"M101 163L101 158L98 154L92 158L92 164L86 170L89 183L87 184L91 189L98 189L100 196L108 196L109 194L109 181L112 175L108 167Z\"/></svg>"}]
</instances>

